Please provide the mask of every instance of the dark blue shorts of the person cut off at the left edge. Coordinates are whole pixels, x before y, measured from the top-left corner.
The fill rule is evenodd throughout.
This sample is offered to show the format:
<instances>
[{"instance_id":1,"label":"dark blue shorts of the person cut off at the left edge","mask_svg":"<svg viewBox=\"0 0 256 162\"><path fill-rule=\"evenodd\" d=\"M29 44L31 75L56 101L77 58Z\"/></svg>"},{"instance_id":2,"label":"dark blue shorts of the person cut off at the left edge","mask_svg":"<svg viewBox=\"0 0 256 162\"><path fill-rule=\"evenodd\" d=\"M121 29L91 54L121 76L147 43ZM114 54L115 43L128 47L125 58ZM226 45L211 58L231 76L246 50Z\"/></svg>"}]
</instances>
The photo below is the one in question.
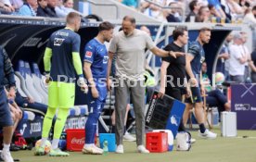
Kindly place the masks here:
<instances>
[{"instance_id":1,"label":"dark blue shorts of the person cut off at the left edge","mask_svg":"<svg viewBox=\"0 0 256 162\"><path fill-rule=\"evenodd\" d=\"M10 108L8 106L6 92L4 90L0 91L0 126L13 126L13 120L11 118Z\"/></svg>"}]
</instances>

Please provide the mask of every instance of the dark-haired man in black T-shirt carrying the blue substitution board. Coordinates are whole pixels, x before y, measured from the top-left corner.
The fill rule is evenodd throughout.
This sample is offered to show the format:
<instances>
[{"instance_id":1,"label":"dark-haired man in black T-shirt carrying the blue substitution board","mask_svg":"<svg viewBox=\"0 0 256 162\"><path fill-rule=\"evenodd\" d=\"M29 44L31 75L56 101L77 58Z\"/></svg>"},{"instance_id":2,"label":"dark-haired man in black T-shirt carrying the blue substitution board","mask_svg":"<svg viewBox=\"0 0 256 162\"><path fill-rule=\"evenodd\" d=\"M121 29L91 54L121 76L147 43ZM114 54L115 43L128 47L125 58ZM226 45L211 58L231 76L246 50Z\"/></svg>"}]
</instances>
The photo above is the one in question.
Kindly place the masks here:
<instances>
[{"instance_id":1,"label":"dark-haired man in black T-shirt carrying the blue substitution board","mask_svg":"<svg viewBox=\"0 0 256 162\"><path fill-rule=\"evenodd\" d=\"M185 28L176 28L173 31L173 43L164 47L165 51L185 53L184 45L187 44L188 34ZM173 56L163 57L160 68L160 93L172 96L182 101L186 94L186 56L174 58ZM178 131L185 131L183 121Z\"/></svg>"}]
</instances>

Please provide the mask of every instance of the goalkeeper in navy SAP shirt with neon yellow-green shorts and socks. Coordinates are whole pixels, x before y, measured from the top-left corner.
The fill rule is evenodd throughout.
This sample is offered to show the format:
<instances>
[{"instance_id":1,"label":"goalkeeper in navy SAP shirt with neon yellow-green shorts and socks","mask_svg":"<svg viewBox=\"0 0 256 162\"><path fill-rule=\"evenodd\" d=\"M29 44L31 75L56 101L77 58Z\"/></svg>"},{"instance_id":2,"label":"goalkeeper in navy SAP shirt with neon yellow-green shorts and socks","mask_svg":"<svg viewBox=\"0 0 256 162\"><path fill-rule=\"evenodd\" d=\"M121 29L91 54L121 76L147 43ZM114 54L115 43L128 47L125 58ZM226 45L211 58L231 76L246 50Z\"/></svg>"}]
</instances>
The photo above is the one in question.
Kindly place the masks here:
<instances>
[{"instance_id":1,"label":"goalkeeper in navy SAP shirt with neon yellow-green shorts and socks","mask_svg":"<svg viewBox=\"0 0 256 162\"><path fill-rule=\"evenodd\" d=\"M55 31L46 46L44 64L48 89L48 109L44 119L42 143L36 148L35 156L45 155L45 142L56 115L54 135L49 156L70 156L58 148L60 134L69 115L70 107L74 106L75 82L79 83L83 92L87 85L83 80L83 69L80 58L80 35L75 33L81 24L80 15L70 12L67 16L67 26ZM76 81L76 74L79 80Z\"/></svg>"}]
</instances>

